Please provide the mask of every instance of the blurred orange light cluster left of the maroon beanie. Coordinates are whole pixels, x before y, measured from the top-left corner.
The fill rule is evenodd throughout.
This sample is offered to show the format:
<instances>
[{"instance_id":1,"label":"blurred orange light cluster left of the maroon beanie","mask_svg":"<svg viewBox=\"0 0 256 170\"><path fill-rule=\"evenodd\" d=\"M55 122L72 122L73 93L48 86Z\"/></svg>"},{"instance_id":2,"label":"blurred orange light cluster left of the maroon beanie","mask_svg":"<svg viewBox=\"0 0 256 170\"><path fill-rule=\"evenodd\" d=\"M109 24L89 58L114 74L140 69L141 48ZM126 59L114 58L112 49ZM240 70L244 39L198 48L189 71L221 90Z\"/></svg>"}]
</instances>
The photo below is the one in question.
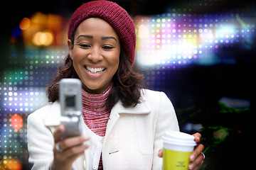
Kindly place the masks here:
<instances>
[{"instance_id":1,"label":"blurred orange light cluster left of the maroon beanie","mask_svg":"<svg viewBox=\"0 0 256 170\"><path fill-rule=\"evenodd\" d=\"M23 18L19 25L26 46L62 46L68 40L68 23L56 14L34 13L30 18Z\"/></svg>"}]
</instances>

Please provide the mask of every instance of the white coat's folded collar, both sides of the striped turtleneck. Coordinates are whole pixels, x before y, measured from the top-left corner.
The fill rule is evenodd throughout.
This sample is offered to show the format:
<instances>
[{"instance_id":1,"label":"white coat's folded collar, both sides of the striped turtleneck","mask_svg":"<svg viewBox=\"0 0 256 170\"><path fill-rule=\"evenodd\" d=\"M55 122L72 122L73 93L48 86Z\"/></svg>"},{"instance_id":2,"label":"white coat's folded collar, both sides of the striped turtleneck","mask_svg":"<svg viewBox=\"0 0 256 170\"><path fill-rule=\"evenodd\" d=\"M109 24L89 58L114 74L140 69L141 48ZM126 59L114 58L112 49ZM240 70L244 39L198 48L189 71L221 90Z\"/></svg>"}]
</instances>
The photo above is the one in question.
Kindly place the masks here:
<instances>
[{"instance_id":1,"label":"white coat's folded collar, both sides of the striped turtleneck","mask_svg":"<svg viewBox=\"0 0 256 170\"><path fill-rule=\"evenodd\" d=\"M48 116L46 117L44 123L46 126L55 126L60 125L60 103L55 101L54 103L50 104L48 110ZM146 101L142 101L138 103L136 106L130 106L128 108L124 108L122 102L119 101L117 104L112 108L110 117L113 114L122 114L122 113L129 113L129 114L148 114L151 111L151 107L149 103Z\"/></svg>"}]
</instances>

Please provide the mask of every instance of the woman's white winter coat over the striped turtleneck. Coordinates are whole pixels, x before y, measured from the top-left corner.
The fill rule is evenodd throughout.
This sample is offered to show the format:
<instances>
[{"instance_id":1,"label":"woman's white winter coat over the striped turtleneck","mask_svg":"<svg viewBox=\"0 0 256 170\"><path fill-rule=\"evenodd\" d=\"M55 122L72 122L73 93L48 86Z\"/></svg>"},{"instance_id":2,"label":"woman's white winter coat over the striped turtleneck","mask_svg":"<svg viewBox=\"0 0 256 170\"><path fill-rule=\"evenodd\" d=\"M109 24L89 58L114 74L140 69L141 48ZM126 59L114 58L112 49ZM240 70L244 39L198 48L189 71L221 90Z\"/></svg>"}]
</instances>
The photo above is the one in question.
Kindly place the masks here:
<instances>
[{"instance_id":1,"label":"woman's white winter coat over the striped turtleneck","mask_svg":"<svg viewBox=\"0 0 256 170\"><path fill-rule=\"evenodd\" d=\"M53 132L58 125L58 102L28 116L28 152L33 169L49 169L53 162ZM135 107L124 108L119 101L112 108L105 137L95 135L83 122L82 129L90 136L90 148L73 163L74 170L97 169L101 153L105 170L161 169L161 137L167 130L179 130L169 98L150 90L144 90L142 103Z\"/></svg>"}]
</instances>

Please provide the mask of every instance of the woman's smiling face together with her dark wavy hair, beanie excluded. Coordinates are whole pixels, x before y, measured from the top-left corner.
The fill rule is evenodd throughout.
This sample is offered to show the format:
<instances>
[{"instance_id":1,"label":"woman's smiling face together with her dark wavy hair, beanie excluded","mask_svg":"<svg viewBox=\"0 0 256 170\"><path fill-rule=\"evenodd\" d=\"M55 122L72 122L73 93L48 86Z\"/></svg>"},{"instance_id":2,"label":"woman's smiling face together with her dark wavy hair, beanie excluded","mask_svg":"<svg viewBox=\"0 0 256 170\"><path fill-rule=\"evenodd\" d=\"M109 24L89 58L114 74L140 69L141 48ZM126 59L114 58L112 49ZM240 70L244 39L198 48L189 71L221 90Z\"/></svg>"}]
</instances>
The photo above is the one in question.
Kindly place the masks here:
<instances>
[{"instance_id":1,"label":"woman's smiling face together with her dark wavy hair, beanie excluded","mask_svg":"<svg viewBox=\"0 0 256 170\"><path fill-rule=\"evenodd\" d=\"M134 27L129 26L129 29ZM58 100L60 79L80 78L83 88L91 94L102 93L113 82L106 103L109 111L119 100L126 107L139 103L144 76L134 72L131 65L134 54L127 56L124 50L135 42L121 43L122 36L117 35L117 31L102 18L82 21L68 40L69 55L65 58L65 67L59 67L57 76L48 86L49 101Z\"/></svg>"}]
</instances>

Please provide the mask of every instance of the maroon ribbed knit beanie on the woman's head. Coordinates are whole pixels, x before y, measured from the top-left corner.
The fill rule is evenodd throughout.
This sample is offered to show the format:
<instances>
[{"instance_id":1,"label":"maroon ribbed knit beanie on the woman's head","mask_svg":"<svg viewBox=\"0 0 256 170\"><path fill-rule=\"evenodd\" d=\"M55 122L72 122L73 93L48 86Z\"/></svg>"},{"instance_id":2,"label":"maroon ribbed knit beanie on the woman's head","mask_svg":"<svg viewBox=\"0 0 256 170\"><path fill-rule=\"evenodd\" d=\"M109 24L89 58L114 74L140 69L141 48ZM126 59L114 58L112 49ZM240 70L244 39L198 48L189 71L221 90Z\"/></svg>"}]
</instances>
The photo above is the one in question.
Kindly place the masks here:
<instances>
[{"instance_id":1,"label":"maroon ribbed knit beanie on the woman's head","mask_svg":"<svg viewBox=\"0 0 256 170\"><path fill-rule=\"evenodd\" d=\"M136 34L134 23L127 11L112 1L100 0L82 4L70 19L68 39L71 40L76 28L87 18L102 18L114 28L132 65L135 59Z\"/></svg>"}]
</instances>

